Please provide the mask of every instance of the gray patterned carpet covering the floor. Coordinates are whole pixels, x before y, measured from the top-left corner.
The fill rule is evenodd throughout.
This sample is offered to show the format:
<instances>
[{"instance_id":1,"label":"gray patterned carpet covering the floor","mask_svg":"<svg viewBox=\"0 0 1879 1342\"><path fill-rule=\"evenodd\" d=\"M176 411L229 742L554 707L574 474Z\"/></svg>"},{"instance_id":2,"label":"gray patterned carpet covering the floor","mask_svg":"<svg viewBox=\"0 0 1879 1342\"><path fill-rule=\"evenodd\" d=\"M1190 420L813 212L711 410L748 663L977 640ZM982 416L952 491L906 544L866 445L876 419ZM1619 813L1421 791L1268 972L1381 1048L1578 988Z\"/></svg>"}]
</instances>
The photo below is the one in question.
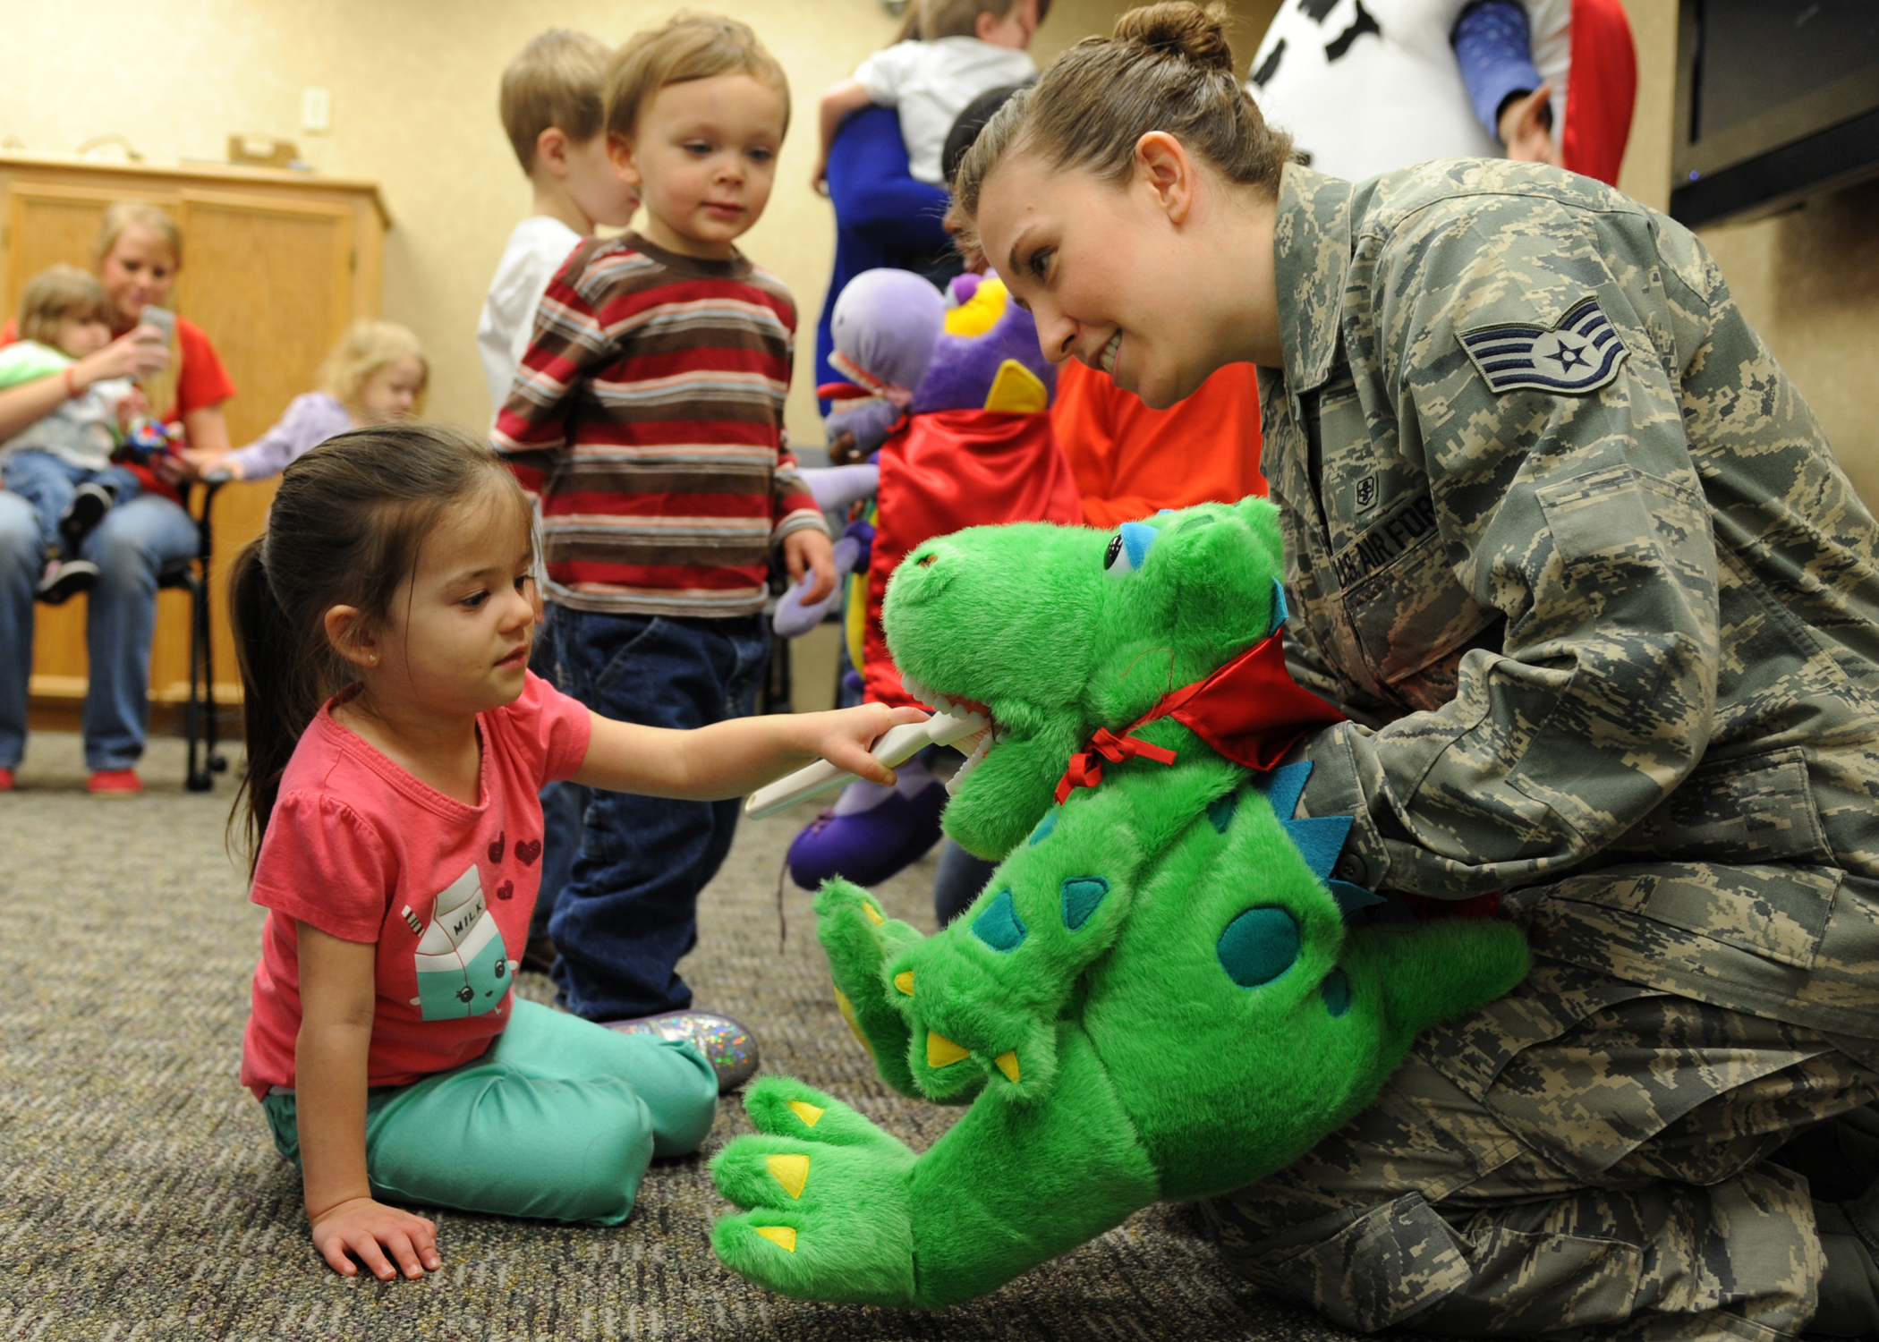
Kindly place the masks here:
<instances>
[{"instance_id":1,"label":"gray patterned carpet covering the floor","mask_svg":"<svg viewBox=\"0 0 1879 1342\"><path fill-rule=\"evenodd\" d=\"M654 1165L631 1222L440 1212L443 1269L344 1280L314 1254L299 1177L237 1081L261 910L224 850L233 784L94 801L75 737L41 733L0 795L0 1338L1325 1338L1218 1265L1191 1212L1150 1209L1002 1291L936 1314L802 1304L718 1267L703 1158ZM891 1094L834 1011L808 897L774 883L808 810L744 825L684 968L701 1006L789 1071L923 1148L951 1111ZM932 861L877 893L932 927ZM519 989L547 1000L547 979ZM727 1103L705 1156L748 1131Z\"/></svg>"}]
</instances>

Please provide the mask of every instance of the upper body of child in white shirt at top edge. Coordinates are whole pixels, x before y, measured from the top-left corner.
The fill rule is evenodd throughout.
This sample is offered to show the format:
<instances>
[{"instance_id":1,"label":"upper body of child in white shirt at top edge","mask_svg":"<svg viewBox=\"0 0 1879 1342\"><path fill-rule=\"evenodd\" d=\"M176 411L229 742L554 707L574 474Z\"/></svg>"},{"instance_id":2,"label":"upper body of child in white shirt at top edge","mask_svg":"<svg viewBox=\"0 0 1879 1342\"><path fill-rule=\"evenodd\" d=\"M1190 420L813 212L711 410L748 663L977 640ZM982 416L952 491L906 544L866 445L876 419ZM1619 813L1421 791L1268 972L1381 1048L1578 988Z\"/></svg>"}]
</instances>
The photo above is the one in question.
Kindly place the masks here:
<instances>
[{"instance_id":1,"label":"upper body of child in white shirt at top edge","mask_svg":"<svg viewBox=\"0 0 1879 1342\"><path fill-rule=\"evenodd\" d=\"M896 41L855 68L853 79L821 96L821 152L812 184L821 190L829 147L851 111L868 103L900 111L908 171L945 186L940 156L947 132L979 94L1037 77L1026 49L1050 11L1050 0L926 0L921 39Z\"/></svg>"}]
</instances>

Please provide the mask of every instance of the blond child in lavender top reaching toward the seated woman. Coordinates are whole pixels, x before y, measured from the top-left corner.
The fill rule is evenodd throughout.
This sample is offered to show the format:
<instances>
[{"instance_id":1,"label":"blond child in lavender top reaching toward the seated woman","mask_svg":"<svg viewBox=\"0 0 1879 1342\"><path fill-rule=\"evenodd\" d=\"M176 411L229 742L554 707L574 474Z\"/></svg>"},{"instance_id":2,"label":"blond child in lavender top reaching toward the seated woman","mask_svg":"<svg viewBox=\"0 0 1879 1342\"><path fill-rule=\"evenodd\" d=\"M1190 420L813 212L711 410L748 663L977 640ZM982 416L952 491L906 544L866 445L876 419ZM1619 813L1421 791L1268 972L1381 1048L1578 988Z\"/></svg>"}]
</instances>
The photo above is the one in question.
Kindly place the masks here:
<instances>
[{"instance_id":1,"label":"blond child in lavender top reaching toward the seated woman","mask_svg":"<svg viewBox=\"0 0 1879 1342\"><path fill-rule=\"evenodd\" d=\"M430 365L408 327L361 318L319 365L319 391L289 400L272 429L229 453L182 455L203 476L218 470L233 479L278 476L334 434L410 419L428 382Z\"/></svg>"}]
</instances>

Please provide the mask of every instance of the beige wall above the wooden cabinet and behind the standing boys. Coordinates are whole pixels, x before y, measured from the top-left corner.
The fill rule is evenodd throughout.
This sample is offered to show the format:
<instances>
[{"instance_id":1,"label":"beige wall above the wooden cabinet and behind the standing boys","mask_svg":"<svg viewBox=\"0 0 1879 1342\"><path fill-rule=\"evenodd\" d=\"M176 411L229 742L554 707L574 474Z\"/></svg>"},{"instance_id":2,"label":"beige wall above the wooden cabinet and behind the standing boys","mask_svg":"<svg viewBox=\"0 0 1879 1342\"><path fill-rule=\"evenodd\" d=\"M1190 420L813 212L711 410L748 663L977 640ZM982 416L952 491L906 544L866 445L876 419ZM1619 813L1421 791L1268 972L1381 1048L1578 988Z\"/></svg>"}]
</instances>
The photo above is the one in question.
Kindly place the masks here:
<instances>
[{"instance_id":1,"label":"beige wall above the wooden cabinet and behind the standing boys","mask_svg":"<svg viewBox=\"0 0 1879 1342\"><path fill-rule=\"evenodd\" d=\"M1238 39L1251 55L1263 30ZM710 4L699 8L712 8ZM808 186L814 101L821 88L891 39L879 0L718 0L744 19L789 71L795 124L780 184L746 252L780 274L800 306L791 432L821 442L810 357L834 250L829 203ZM1126 4L1058 0L1033 55L1048 60L1107 30ZM395 218L385 252L385 316L432 355L430 414L489 423L475 359L483 289L528 186L496 120L496 81L509 56L547 26L618 41L676 4L626 0L13 0L0 24L0 141L70 152L94 135L126 135L150 162L222 160L231 132L293 139L318 171L380 182ZM333 130L299 130L301 88L333 92ZM190 265L214 265L192 256Z\"/></svg>"}]
</instances>

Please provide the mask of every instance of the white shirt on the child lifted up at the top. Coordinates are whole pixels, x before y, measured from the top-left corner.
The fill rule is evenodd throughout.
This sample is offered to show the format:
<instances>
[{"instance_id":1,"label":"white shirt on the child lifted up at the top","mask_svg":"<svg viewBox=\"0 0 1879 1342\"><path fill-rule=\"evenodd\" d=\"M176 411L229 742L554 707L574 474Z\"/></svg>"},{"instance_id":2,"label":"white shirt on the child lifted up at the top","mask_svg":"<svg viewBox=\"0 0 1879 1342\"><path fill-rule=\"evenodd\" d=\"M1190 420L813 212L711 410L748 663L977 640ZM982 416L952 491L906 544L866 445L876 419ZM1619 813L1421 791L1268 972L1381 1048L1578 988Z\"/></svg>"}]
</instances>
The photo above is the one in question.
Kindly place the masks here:
<instances>
[{"instance_id":1,"label":"white shirt on the child lifted up at the top","mask_svg":"<svg viewBox=\"0 0 1879 1342\"><path fill-rule=\"evenodd\" d=\"M908 143L908 171L945 186L940 156L966 103L1003 85L1022 85L1037 73L1030 53L994 47L979 38L900 41L876 51L855 70L868 98L900 111L900 139Z\"/></svg>"}]
</instances>

